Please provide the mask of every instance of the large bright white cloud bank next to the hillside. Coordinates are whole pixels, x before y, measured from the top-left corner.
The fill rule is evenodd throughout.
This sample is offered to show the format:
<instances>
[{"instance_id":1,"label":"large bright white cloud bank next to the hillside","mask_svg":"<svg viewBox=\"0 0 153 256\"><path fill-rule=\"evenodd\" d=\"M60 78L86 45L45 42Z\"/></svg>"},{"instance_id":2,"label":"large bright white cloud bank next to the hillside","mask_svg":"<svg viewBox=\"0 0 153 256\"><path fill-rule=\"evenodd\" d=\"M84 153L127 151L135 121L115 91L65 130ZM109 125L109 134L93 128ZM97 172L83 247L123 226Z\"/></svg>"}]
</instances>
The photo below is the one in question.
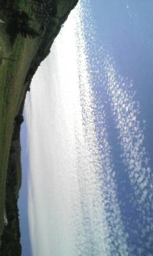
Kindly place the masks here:
<instances>
[{"instance_id":1,"label":"large bright white cloud bank next to the hillside","mask_svg":"<svg viewBox=\"0 0 153 256\"><path fill-rule=\"evenodd\" d=\"M95 131L79 8L39 68L25 102L33 255L128 256L103 107L101 144ZM74 28L80 29L77 40Z\"/></svg>"}]
</instances>

